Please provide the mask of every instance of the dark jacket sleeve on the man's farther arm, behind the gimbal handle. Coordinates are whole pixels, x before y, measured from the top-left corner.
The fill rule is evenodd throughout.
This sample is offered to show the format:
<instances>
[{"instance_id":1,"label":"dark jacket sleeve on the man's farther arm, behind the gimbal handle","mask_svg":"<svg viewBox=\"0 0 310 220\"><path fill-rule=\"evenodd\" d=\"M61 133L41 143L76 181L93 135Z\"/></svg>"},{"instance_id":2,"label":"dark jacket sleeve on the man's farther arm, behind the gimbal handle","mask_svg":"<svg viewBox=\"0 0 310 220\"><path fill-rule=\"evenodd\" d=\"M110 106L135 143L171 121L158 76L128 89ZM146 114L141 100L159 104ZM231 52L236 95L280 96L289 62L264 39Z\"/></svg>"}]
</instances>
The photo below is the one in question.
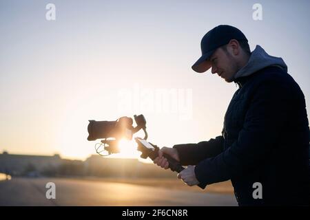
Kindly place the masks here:
<instances>
[{"instance_id":1,"label":"dark jacket sleeve on the man's farther arm, behind the gimbal handle","mask_svg":"<svg viewBox=\"0 0 310 220\"><path fill-rule=\"evenodd\" d=\"M223 136L218 136L215 139L212 138L198 144L176 144L173 148L178 151L180 164L187 166L196 165L208 157L215 157L223 151L223 145Z\"/></svg>"}]
</instances>

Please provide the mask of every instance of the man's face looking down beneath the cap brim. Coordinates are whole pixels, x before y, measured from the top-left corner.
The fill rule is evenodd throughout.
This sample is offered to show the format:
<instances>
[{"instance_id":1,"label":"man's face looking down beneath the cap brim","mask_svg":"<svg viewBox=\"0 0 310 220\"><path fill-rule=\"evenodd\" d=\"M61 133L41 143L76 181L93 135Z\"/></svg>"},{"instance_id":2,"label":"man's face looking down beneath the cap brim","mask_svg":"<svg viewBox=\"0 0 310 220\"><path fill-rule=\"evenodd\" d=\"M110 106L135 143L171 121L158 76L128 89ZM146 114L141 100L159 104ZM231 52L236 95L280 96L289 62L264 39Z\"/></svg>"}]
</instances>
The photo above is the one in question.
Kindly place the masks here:
<instances>
[{"instance_id":1,"label":"man's face looking down beneath the cap brim","mask_svg":"<svg viewBox=\"0 0 310 220\"><path fill-rule=\"evenodd\" d=\"M229 53L229 48L225 51L219 47L210 56L209 61L211 61L212 74L218 74L227 83L231 83L234 80L234 75L238 72L238 65L234 56Z\"/></svg>"}]
</instances>

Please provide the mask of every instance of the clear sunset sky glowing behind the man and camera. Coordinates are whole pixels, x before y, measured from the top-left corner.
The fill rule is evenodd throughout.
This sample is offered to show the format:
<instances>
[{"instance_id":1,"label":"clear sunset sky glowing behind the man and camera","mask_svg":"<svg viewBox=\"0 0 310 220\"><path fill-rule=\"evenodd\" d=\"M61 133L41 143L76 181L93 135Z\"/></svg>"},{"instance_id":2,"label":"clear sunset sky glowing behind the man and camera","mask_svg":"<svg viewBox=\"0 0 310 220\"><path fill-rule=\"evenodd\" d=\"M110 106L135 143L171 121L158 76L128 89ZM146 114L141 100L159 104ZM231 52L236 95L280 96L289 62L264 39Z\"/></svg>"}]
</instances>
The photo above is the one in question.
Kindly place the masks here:
<instances>
[{"instance_id":1,"label":"clear sunset sky glowing behind the man and camera","mask_svg":"<svg viewBox=\"0 0 310 220\"><path fill-rule=\"evenodd\" d=\"M46 19L48 3L54 20ZM87 141L88 120L141 113L149 142L160 147L220 135L238 87L191 69L201 38L220 24L242 30L251 50L282 57L309 106L309 8L274 0L0 0L0 152L85 159L96 143ZM118 157L138 157L129 145Z\"/></svg>"}]
</instances>

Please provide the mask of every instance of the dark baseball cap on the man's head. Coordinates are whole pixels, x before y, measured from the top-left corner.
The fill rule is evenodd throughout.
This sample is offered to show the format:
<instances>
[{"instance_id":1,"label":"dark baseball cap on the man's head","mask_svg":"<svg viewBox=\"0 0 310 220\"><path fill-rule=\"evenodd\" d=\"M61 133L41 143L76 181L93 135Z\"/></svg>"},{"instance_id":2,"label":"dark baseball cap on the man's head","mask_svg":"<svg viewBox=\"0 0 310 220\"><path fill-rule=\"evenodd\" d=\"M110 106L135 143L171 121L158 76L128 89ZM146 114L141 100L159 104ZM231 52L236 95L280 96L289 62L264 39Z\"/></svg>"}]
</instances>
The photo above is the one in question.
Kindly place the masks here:
<instances>
[{"instance_id":1,"label":"dark baseball cap on the man's head","mask_svg":"<svg viewBox=\"0 0 310 220\"><path fill-rule=\"evenodd\" d=\"M208 61L208 58L218 47L227 45L231 39L247 41L245 34L230 25L218 25L209 30L200 43L202 56L192 66L192 69L198 73L206 72L211 67L211 61Z\"/></svg>"}]
</instances>

